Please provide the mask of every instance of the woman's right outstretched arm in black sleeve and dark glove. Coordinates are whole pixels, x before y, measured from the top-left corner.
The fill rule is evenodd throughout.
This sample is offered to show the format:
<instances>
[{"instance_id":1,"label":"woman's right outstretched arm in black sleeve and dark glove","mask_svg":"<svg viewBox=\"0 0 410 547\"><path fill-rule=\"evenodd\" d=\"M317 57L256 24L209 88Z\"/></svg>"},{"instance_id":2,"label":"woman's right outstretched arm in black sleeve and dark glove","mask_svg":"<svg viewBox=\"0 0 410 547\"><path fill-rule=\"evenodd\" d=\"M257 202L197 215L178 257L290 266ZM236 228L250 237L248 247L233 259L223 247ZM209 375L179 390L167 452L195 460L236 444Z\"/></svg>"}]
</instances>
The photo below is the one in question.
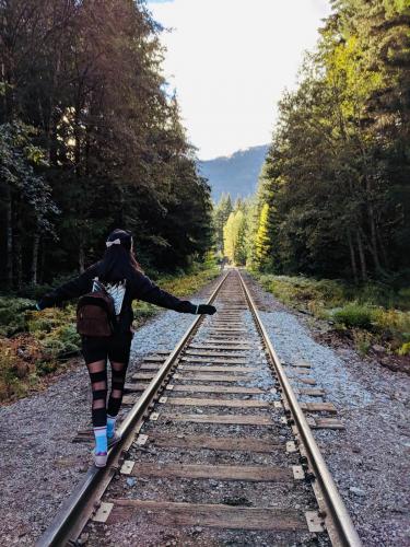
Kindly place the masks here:
<instances>
[{"instance_id":1,"label":"woman's right outstretched arm in black sleeve and dark glove","mask_svg":"<svg viewBox=\"0 0 410 547\"><path fill-rule=\"evenodd\" d=\"M179 300L177 296L160 289L151 279L143 274L137 272L134 278L133 298L156 304L167 310L179 313L214 314L216 309L207 304L192 304L188 300Z\"/></svg>"}]
</instances>

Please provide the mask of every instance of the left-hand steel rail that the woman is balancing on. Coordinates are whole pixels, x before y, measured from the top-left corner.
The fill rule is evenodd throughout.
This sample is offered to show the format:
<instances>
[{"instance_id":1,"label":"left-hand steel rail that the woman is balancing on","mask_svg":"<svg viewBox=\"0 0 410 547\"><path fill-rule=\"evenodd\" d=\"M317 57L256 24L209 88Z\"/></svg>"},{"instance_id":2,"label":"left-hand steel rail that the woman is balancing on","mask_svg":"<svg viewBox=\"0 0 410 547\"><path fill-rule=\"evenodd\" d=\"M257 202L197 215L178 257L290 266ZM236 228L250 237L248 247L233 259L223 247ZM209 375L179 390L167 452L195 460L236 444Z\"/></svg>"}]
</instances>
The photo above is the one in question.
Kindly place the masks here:
<instances>
[{"instance_id":1,"label":"left-hand steel rail that the woman is balancing on","mask_svg":"<svg viewBox=\"0 0 410 547\"><path fill-rule=\"evenodd\" d=\"M212 292L211 296L208 300L208 304L211 304L218 293L221 290L221 287L225 282L229 272L222 278L219 282L215 290ZM183 351L186 342L202 321L203 316L198 315L192 324L188 327L184 336L179 339L177 345L175 346L172 353L167 357L164 364L161 366L159 372L152 379L147 389L142 393L140 399L136 403L136 405L128 412L126 419L122 421L118 432L122 435L121 442L109 450L108 452L108 463L107 467L97 468L95 466L90 467L84 479L77 486L70 497L65 501L61 505L60 510L54 517L51 524L47 527L42 537L36 542L37 547L61 547L66 545L70 540L73 542L77 538L72 538L70 536L70 532L74 527L75 522L81 517L82 511L85 508L86 503L92 499L93 492L95 492L99 481L104 478L107 472L109 472L109 462L113 458L113 455L118 454L121 449L121 445L125 443L127 437L132 432L132 428L144 417L145 411L149 406L155 398L157 391L161 388L164 379L166 377L168 371L174 365L175 361L179 357L179 353Z\"/></svg>"}]
</instances>

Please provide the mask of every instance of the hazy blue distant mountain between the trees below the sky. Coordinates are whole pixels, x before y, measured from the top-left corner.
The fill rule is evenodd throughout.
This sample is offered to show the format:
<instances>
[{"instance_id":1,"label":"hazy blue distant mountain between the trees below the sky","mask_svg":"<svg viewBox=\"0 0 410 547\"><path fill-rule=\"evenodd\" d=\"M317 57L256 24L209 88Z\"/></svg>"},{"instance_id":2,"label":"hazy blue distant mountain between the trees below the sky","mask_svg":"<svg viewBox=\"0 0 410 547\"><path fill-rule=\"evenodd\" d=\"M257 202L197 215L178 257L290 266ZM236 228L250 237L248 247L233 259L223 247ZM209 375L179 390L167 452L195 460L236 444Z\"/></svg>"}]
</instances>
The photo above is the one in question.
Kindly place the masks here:
<instances>
[{"instance_id":1,"label":"hazy blue distant mountain between the trees below the sky","mask_svg":"<svg viewBox=\"0 0 410 547\"><path fill-rule=\"evenodd\" d=\"M199 161L199 171L208 178L214 201L219 201L224 191L231 194L233 200L254 194L268 149L268 144L262 144L238 150L232 155Z\"/></svg>"}]
</instances>

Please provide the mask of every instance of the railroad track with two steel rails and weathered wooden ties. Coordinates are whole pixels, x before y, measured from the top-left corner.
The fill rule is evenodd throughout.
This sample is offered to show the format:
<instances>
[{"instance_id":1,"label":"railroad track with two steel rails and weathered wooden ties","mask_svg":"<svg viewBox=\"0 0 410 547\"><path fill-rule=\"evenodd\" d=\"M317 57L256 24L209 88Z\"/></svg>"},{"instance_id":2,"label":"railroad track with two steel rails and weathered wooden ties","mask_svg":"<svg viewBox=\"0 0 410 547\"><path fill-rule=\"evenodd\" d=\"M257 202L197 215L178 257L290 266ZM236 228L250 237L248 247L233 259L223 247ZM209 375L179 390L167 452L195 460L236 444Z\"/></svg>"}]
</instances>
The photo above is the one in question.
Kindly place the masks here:
<instances>
[{"instance_id":1,"label":"railroad track with two steel rails and weathered wooden ties","mask_svg":"<svg viewBox=\"0 0 410 547\"><path fill-rule=\"evenodd\" d=\"M361 545L311 430L336 409L296 398L324 395L309 363L280 363L238 270L210 302L133 374L120 445L37 545Z\"/></svg>"}]
</instances>

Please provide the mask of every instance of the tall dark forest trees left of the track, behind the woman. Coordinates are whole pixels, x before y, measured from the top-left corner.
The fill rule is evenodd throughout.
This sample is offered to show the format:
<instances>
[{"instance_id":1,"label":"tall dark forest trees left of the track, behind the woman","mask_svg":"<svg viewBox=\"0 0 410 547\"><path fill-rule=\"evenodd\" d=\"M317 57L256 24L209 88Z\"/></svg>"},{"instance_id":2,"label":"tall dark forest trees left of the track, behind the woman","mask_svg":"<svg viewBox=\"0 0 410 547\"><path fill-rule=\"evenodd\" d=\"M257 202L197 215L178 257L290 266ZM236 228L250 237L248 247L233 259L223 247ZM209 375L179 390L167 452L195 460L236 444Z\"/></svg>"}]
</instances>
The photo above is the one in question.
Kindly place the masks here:
<instances>
[{"instance_id":1,"label":"tall dark forest trees left of the track, behind the woman","mask_svg":"<svg viewBox=\"0 0 410 547\"><path fill-rule=\"evenodd\" d=\"M200 258L210 188L144 1L12 0L0 13L3 287L83 270L118 226L144 266Z\"/></svg>"}]
</instances>

